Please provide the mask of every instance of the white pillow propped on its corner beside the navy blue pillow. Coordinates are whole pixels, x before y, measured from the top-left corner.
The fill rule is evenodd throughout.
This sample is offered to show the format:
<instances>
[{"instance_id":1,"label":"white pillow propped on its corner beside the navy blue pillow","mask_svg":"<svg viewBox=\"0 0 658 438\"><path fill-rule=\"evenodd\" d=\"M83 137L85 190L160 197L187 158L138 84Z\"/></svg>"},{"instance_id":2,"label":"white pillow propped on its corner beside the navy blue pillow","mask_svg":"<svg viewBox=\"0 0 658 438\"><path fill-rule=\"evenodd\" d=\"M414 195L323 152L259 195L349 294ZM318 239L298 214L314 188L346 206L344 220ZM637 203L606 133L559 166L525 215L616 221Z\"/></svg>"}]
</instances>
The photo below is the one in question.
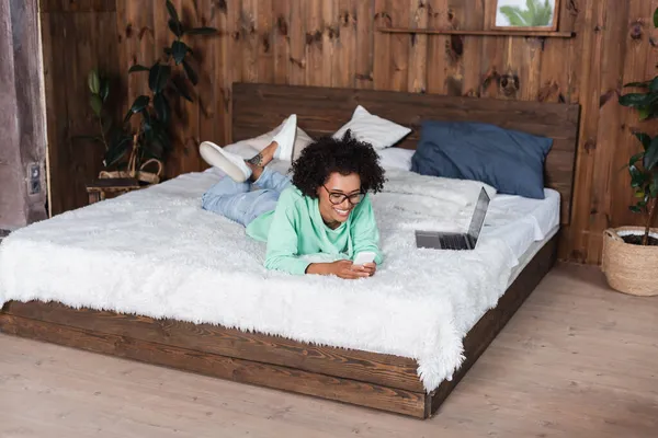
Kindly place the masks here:
<instances>
[{"instance_id":1,"label":"white pillow propped on its corner beside the navy blue pillow","mask_svg":"<svg viewBox=\"0 0 658 438\"><path fill-rule=\"evenodd\" d=\"M375 149L389 148L411 132L411 129L368 113L363 106L356 106L352 119L333 134L340 139L348 129L359 141L368 142Z\"/></svg>"}]
</instances>

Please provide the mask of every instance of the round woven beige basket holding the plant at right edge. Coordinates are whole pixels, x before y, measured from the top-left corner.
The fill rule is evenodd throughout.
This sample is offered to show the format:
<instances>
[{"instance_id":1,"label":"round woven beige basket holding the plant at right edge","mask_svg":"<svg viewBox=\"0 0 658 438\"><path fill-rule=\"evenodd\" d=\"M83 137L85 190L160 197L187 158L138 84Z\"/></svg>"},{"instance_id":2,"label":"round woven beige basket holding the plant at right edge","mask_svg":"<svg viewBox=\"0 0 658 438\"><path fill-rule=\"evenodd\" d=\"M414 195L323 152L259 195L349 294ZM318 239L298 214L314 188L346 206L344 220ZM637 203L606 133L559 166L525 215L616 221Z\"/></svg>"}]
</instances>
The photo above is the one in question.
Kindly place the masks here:
<instances>
[{"instance_id":1,"label":"round woven beige basket holding the plant at right edge","mask_svg":"<svg viewBox=\"0 0 658 438\"><path fill-rule=\"evenodd\" d=\"M611 288L629 295L658 295L658 246L634 245L622 237L644 234L642 227L610 228L603 231L601 268ZM658 239L658 229L650 235Z\"/></svg>"}]
</instances>

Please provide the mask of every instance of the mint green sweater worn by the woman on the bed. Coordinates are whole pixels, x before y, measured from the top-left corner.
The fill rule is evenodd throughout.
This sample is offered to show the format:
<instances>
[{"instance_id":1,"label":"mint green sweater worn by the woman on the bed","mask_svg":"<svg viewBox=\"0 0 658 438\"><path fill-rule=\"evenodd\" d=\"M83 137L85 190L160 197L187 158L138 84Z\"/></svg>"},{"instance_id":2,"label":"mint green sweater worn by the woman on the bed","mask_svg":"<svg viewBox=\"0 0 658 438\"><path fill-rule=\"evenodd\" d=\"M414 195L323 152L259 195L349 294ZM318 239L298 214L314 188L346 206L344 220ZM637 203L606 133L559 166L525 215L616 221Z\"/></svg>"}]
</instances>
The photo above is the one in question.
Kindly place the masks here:
<instances>
[{"instance_id":1,"label":"mint green sweater worn by the woman on the bed","mask_svg":"<svg viewBox=\"0 0 658 438\"><path fill-rule=\"evenodd\" d=\"M366 195L336 230L325 224L318 207L317 198L304 196L291 186L281 193L274 211L259 216L247 226L248 235L268 242L268 269L303 275L311 263L304 255L321 253L330 261L353 260L362 251L374 252L375 263L382 264L379 231L370 196Z\"/></svg>"}]
</instances>

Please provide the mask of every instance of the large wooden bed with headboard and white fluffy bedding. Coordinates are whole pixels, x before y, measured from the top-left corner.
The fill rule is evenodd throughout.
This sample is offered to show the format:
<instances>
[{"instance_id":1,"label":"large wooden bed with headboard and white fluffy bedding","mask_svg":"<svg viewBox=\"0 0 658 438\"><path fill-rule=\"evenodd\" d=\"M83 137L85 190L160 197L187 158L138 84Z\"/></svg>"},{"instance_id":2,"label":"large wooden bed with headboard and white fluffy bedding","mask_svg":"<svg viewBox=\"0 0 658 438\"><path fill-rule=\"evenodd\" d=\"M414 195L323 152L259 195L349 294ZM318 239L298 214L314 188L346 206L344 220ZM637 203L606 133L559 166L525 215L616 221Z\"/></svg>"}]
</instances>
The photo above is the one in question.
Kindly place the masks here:
<instances>
[{"instance_id":1,"label":"large wooden bed with headboard and white fluffy bedding","mask_svg":"<svg viewBox=\"0 0 658 438\"><path fill-rule=\"evenodd\" d=\"M415 148L426 118L546 136L554 140L546 197L496 195L481 251L439 257L412 247L418 222L410 218L422 211L393 208L399 197L392 192L417 187L445 203L454 184L466 191L469 182L436 187L434 180L387 171L392 188L373 205L390 262L372 279L347 285L263 272L262 245L200 210L198 197L223 175L213 169L185 174L7 239L0 330L432 416L555 262L559 228L570 217L578 105L242 83L234 84L232 102L234 141L257 137L292 113L311 137L329 135L358 104L413 129L399 148ZM500 265L495 273L485 268L491 263ZM418 270L409 273L410 265ZM429 268L434 265L438 272Z\"/></svg>"}]
</instances>

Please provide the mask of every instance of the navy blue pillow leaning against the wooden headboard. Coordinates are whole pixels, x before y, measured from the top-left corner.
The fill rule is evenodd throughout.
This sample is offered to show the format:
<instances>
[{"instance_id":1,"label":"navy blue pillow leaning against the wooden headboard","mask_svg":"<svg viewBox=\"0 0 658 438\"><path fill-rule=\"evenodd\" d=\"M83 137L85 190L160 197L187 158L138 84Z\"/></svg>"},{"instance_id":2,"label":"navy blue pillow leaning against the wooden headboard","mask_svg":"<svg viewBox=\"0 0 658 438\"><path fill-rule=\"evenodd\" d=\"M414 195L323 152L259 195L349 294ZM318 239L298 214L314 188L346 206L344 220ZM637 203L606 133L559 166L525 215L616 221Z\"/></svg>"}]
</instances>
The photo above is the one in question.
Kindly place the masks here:
<instances>
[{"instance_id":1,"label":"navy blue pillow leaning against the wooden headboard","mask_svg":"<svg viewBox=\"0 0 658 438\"><path fill-rule=\"evenodd\" d=\"M544 199L544 161L553 139L472 122L423 122L411 170L474 180L499 193Z\"/></svg>"}]
</instances>

